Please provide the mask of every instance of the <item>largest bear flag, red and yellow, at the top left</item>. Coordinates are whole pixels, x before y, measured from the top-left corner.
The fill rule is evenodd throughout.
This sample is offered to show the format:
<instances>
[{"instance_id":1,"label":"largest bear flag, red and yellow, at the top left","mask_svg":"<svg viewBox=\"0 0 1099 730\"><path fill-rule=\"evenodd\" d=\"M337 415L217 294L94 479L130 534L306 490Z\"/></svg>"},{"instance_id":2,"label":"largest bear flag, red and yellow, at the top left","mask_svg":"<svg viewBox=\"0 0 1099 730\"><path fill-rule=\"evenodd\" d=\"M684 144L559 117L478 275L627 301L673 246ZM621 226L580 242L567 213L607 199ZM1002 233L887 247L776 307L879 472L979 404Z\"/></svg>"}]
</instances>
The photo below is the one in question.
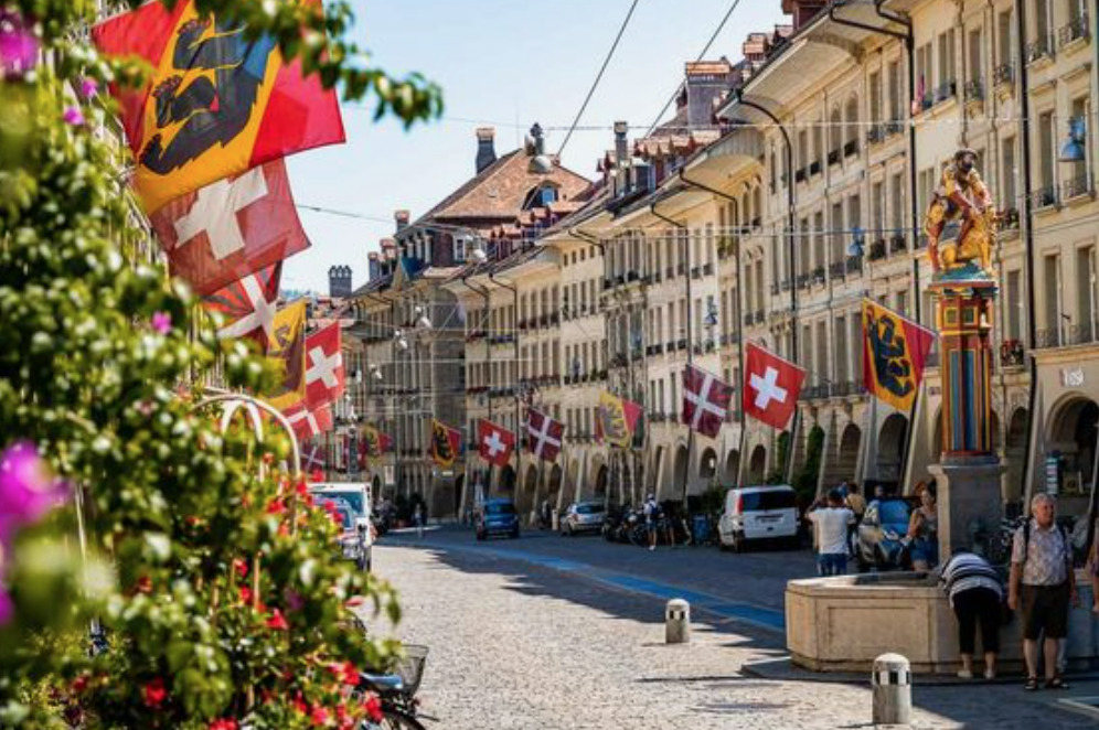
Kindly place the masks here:
<instances>
[{"instance_id":1,"label":"largest bear flag, red and yellow, at the top left","mask_svg":"<svg viewBox=\"0 0 1099 730\"><path fill-rule=\"evenodd\" d=\"M300 0L323 12L321 0ZM152 65L141 89L111 86L146 211L294 152L344 141L333 89L299 61L286 64L269 35L249 37L224 13L205 18L194 0L169 10L149 2L99 23L92 40L107 56Z\"/></svg>"}]
</instances>

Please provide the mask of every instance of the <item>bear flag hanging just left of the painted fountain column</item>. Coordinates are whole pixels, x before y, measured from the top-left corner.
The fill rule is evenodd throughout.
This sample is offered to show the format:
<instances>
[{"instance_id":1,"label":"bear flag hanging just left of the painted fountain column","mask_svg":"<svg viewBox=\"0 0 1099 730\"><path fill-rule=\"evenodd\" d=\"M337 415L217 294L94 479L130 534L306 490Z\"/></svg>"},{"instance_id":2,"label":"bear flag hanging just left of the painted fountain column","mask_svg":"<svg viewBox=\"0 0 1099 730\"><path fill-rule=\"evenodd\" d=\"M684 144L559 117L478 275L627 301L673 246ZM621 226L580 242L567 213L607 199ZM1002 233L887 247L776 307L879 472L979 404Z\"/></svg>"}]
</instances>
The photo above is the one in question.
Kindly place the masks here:
<instances>
[{"instance_id":1,"label":"bear flag hanging just left of the painted fountain column","mask_svg":"<svg viewBox=\"0 0 1099 730\"><path fill-rule=\"evenodd\" d=\"M911 410L935 332L863 300L863 383L898 410Z\"/></svg>"}]
</instances>

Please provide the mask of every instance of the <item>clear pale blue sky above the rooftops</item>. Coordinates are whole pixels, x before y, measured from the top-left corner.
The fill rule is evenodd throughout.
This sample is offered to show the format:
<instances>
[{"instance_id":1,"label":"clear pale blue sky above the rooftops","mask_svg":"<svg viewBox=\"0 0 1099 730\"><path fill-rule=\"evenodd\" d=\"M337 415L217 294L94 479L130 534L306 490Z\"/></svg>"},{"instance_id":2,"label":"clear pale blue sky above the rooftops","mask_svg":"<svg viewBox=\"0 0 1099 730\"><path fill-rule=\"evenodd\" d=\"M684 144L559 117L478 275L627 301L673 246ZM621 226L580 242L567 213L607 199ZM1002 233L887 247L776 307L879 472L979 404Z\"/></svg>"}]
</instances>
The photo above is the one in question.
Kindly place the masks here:
<instances>
[{"instance_id":1,"label":"clear pale blue sky above the rooftops","mask_svg":"<svg viewBox=\"0 0 1099 730\"><path fill-rule=\"evenodd\" d=\"M626 34L563 153L566 167L595 176L611 146L610 125L640 133L653 121L733 0L640 0ZM290 159L302 205L373 219L301 211L312 248L287 261L282 286L327 291L328 268L345 264L358 287L366 254L393 233L393 212L413 218L473 174L473 130L497 128L497 153L522 143L534 121L556 152L630 0L354 0L355 40L394 74L419 71L444 90L442 119L405 131L373 124L363 106L344 105L348 143ZM780 0L740 0L707 58L736 61L747 33L785 22ZM670 112L669 112L670 114Z\"/></svg>"}]
</instances>

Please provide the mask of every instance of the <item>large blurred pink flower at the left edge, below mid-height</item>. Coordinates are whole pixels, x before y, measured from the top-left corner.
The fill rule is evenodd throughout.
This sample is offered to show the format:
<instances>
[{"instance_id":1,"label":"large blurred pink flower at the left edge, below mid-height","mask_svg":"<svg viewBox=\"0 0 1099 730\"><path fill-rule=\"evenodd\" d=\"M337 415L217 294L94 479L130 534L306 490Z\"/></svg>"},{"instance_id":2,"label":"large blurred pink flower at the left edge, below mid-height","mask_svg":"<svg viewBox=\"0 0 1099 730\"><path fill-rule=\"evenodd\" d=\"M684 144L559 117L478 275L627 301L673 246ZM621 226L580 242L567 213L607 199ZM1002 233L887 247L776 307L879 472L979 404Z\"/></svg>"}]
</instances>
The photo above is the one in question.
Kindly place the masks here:
<instances>
[{"instance_id":1,"label":"large blurred pink flower at the left edge, below mid-height","mask_svg":"<svg viewBox=\"0 0 1099 730\"><path fill-rule=\"evenodd\" d=\"M68 496L68 486L53 480L38 449L20 441L0 454L0 552L15 530L36 523Z\"/></svg>"}]
</instances>

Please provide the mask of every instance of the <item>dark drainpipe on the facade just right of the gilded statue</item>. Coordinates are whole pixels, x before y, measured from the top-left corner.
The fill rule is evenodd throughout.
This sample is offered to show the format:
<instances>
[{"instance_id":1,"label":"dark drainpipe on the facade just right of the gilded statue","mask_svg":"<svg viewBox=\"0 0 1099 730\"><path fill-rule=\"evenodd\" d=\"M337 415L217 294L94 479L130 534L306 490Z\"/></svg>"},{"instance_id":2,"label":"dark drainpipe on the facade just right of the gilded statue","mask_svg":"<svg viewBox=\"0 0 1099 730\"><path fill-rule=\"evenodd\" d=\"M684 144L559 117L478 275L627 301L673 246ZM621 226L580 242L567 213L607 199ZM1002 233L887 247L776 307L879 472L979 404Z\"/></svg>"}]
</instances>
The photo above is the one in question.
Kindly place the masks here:
<instances>
[{"instance_id":1,"label":"dark drainpipe on the facade just right of the gilded statue","mask_svg":"<svg viewBox=\"0 0 1099 730\"><path fill-rule=\"evenodd\" d=\"M1034 412L1038 399L1038 362L1034 356L1034 351L1038 346L1038 323L1037 304L1034 294L1034 206L1032 204L1031 191L1031 97L1028 94L1027 78L1029 76L1026 68L1026 2L1014 0L1015 10L1015 43L1018 58L1018 80L1015 86L1015 95L1020 99L1020 118L1023 120L1018 126L1020 139L1023 144L1023 236L1024 250L1026 253L1026 307L1029 310L1026 316L1026 339L1027 355L1031 358L1031 393L1026 411L1026 451L1023 453L1023 514L1031 514L1031 492L1034 489L1033 466L1031 453L1037 448L1037 433L1035 426L1037 415Z\"/></svg>"}]
</instances>

